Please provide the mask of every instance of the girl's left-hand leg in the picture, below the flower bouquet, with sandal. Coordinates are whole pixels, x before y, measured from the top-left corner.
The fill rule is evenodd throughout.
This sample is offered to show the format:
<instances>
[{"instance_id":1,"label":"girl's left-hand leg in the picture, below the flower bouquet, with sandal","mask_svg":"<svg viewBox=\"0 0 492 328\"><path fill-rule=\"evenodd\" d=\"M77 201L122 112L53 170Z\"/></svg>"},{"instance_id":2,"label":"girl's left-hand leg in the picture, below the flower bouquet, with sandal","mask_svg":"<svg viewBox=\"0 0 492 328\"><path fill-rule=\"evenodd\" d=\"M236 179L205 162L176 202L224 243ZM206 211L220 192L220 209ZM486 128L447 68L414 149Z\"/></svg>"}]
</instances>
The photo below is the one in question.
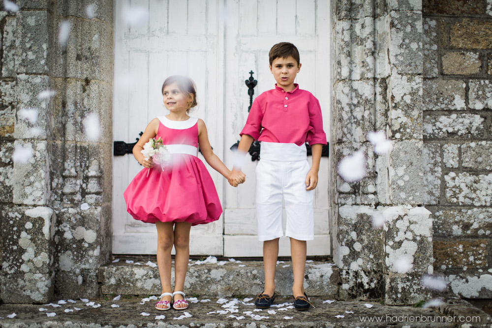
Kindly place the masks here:
<instances>
[{"instance_id":1,"label":"girl's left-hand leg in the picture, below the flower bouquet, with sandal","mask_svg":"<svg viewBox=\"0 0 492 328\"><path fill-rule=\"evenodd\" d=\"M161 293L172 293L171 287L171 250L174 244L174 231L172 222L156 222L157 228L157 266L159 268ZM172 301L170 296L164 296L161 300ZM164 304L157 305L164 308Z\"/></svg>"}]
</instances>

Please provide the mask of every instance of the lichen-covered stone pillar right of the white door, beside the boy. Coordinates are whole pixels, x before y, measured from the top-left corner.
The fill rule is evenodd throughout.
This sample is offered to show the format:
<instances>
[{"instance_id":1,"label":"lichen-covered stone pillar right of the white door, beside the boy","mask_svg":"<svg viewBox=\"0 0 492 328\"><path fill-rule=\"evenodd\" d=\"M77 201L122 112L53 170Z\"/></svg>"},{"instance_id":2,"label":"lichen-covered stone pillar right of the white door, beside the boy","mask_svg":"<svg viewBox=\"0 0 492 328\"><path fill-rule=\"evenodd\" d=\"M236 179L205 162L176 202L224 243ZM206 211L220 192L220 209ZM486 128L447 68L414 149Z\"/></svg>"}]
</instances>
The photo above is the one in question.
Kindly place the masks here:
<instances>
[{"instance_id":1,"label":"lichen-covered stone pillar right of the white door, beside the boy","mask_svg":"<svg viewBox=\"0 0 492 328\"><path fill-rule=\"evenodd\" d=\"M432 273L432 221L426 195L422 137L421 1L346 0L335 4L332 167L357 149L367 159L366 178L336 177L338 204L334 259L341 298L415 303L428 294L423 274ZM384 131L389 154L378 155L369 131ZM336 174L336 172L334 172ZM383 228L371 217L383 215ZM400 273L396 261L412 264ZM399 272L400 271L400 272Z\"/></svg>"}]
</instances>

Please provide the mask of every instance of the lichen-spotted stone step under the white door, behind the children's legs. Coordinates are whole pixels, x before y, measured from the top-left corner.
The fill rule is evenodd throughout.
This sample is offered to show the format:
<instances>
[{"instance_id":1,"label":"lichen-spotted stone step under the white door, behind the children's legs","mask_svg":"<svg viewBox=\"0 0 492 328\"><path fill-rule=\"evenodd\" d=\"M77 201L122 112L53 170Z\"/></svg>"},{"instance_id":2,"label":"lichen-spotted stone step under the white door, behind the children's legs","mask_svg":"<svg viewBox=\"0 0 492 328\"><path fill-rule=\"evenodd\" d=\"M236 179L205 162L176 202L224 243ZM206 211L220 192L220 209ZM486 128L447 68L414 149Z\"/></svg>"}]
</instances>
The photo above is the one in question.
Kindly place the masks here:
<instances>
[{"instance_id":1,"label":"lichen-spotted stone step under the white door, behind the children's legs","mask_svg":"<svg viewBox=\"0 0 492 328\"><path fill-rule=\"evenodd\" d=\"M262 292L264 270L262 261L216 261L189 262L184 283L188 296L246 297ZM133 263L127 263L133 261ZM139 262L140 261L140 262ZM159 271L142 259L123 259L99 268L99 284L103 295L154 295L160 294ZM203 263L203 262L216 263ZM140 263L140 264L139 264ZM174 262L173 262L174 268ZM309 296L336 298L339 288L339 270L327 261L308 261L304 287ZM292 295L292 262L279 261L276 272L278 295ZM174 269L171 284L174 285Z\"/></svg>"}]
</instances>

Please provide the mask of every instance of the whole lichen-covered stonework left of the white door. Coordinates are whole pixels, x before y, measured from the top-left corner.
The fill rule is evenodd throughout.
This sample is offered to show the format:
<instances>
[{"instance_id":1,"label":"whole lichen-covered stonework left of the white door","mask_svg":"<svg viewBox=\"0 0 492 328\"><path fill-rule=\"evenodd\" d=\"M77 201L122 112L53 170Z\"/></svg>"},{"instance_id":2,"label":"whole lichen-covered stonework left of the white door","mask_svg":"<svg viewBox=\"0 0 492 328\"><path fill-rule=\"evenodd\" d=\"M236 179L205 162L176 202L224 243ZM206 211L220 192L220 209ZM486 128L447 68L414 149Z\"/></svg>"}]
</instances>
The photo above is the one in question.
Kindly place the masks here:
<instances>
[{"instance_id":1,"label":"whole lichen-covered stonework left of the white door","mask_svg":"<svg viewBox=\"0 0 492 328\"><path fill-rule=\"evenodd\" d=\"M97 295L110 254L113 2L96 1L93 14L91 3L19 0L0 12L3 302ZM46 90L56 94L38 97ZM37 119L22 115L29 108ZM99 138L84 133L89 114ZM14 149L32 156L12 160Z\"/></svg>"}]
</instances>

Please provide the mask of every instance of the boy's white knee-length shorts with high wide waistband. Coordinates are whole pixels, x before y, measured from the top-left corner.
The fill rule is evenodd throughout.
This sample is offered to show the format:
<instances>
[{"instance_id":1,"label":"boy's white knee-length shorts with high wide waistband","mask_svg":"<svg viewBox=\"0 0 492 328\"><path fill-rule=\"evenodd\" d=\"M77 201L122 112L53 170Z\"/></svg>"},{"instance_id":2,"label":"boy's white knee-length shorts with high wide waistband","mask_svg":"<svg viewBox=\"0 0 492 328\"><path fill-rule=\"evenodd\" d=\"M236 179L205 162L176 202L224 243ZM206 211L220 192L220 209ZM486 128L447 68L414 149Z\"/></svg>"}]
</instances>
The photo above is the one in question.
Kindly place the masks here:
<instances>
[{"instance_id":1,"label":"boy's white knee-length shorts with high wide waistband","mask_svg":"<svg viewBox=\"0 0 492 328\"><path fill-rule=\"evenodd\" d=\"M306 190L310 170L306 146L262 142L260 158L255 171L258 239L283 236L282 199L287 214L285 236L314 239L314 190Z\"/></svg>"}]
</instances>

